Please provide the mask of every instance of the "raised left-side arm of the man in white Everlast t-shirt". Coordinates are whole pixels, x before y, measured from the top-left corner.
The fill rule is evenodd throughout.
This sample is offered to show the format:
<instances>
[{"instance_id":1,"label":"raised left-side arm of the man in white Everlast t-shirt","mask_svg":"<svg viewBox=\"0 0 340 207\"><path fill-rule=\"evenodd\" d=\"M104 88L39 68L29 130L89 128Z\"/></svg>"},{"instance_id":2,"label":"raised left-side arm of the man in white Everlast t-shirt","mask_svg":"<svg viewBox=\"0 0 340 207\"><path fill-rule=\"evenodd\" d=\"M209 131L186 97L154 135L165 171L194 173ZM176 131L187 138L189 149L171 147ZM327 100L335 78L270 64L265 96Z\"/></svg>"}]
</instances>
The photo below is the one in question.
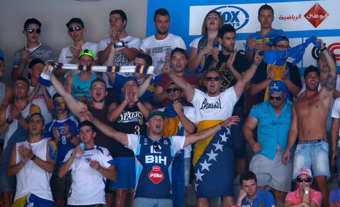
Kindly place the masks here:
<instances>
[{"instance_id":1,"label":"raised left-side arm of the man in white Everlast t-shirt","mask_svg":"<svg viewBox=\"0 0 340 207\"><path fill-rule=\"evenodd\" d=\"M178 76L176 73L174 73L169 65L165 62L164 67L162 70L169 75L171 80L182 89L184 92L184 96L189 100L192 101L195 90L193 87L181 76Z\"/></svg>"}]
</instances>

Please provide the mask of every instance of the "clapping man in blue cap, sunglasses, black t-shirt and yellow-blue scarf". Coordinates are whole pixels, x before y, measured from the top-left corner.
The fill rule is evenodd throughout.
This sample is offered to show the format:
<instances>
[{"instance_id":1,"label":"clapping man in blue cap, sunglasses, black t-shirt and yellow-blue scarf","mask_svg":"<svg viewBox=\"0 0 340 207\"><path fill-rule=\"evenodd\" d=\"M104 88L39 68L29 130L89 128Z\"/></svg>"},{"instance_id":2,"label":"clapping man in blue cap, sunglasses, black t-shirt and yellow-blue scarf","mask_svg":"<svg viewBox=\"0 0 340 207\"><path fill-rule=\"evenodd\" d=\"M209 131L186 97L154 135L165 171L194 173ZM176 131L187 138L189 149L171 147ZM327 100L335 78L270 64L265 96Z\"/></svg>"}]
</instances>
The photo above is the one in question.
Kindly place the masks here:
<instances>
[{"instance_id":1,"label":"clapping man in blue cap, sunglasses, black t-shirt and yellow-blue scarf","mask_svg":"<svg viewBox=\"0 0 340 207\"><path fill-rule=\"evenodd\" d=\"M285 35L277 35L272 41L272 50L287 50L290 48L289 39ZM297 97L302 87L299 68L290 62L281 66L268 65L261 62L259 69L256 71L254 78L251 80L250 92L252 95L257 94L258 103L268 99L268 85L273 80L282 80L286 85L286 98L293 101Z\"/></svg>"}]
</instances>

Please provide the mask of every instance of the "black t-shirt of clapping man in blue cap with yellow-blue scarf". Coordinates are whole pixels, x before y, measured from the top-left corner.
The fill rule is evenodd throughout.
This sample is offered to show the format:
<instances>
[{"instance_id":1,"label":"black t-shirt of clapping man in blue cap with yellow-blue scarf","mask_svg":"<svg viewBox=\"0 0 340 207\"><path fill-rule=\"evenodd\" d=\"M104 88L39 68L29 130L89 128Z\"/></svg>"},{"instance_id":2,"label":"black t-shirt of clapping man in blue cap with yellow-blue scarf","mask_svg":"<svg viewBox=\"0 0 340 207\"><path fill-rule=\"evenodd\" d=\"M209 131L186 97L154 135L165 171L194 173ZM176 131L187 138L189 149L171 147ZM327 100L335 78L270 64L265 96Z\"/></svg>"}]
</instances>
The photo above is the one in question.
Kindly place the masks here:
<instances>
[{"instance_id":1,"label":"black t-shirt of clapping man in blue cap with yellow-blue scarf","mask_svg":"<svg viewBox=\"0 0 340 207\"><path fill-rule=\"evenodd\" d=\"M302 83L301 83L300 71L299 71L298 66L293 65L290 62L287 62L287 67L289 70L289 79L292 81L294 85L301 88ZM258 84L266 79L267 79L267 63L261 62L256 70L256 73L253 79L251 80L251 83ZM266 88L257 94L257 103L261 103L264 101L265 92L266 92ZM293 101L293 95L291 93L289 94L289 99L290 101Z\"/></svg>"}]
</instances>

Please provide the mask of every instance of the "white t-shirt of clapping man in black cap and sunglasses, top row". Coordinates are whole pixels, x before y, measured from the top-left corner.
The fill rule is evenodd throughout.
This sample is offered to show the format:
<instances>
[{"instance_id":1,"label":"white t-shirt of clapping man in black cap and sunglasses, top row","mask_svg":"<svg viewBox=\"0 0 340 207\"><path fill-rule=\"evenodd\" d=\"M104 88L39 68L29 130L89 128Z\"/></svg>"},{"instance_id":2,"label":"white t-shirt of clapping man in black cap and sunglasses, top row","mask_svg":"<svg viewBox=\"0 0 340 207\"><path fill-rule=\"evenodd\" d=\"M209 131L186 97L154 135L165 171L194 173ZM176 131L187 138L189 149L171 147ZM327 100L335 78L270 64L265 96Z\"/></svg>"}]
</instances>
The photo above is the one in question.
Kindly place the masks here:
<instances>
[{"instance_id":1,"label":"white t-shirt of clapping man in black cap and sunglasses, top row","mask_svg":"<svg viewBox=\"0 0 340 207\"><path fill-rule=\"evenodd\" d=\"M69 63L71 61L72 56L73 56L71 51L70 51L71 46L73 46L73 45L70 45L68 47L64 47L64 48L61 49L61 52L60 52L60 55L59 55L59 58L58 58L58 62ZM95 56L95 59L98 59L98 57L97 57L98 44L97 43L86 42L81 48L91 50L93 52L94 56ZM80 72L80 70L68 70L65 73L64 77L67 78L67 76L77 74L79 72Z\"/></svg>"}]
</instances>

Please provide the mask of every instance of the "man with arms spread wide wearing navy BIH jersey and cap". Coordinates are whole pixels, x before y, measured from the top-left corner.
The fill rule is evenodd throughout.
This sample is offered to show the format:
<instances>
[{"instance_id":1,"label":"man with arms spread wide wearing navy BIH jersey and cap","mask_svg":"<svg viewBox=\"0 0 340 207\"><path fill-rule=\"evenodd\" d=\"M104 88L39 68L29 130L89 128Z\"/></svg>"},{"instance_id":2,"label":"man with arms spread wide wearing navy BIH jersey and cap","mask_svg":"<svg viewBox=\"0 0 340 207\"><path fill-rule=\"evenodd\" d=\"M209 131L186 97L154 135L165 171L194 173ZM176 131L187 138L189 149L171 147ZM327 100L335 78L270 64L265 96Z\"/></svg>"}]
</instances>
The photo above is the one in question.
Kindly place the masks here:
<instances>
[{"instance_id":1,"label":"man with arms spread wide wearing navy BIH jersey and cap","mask_svg":"<svg viewBox=\"0 0 340 207\"><path fill-rule=\"evenodd\" d=\"M159 110L149 112L148 135L125 134L101 123L85 108L81 116L92 122L107 136L131 149L136 160L136 183L134 206L172 207L170 172L174 154L184 147L204 140L222 128L236 124L239 118L229 117L215 126L187 136L162 136L166 114ZM156 205L155 205L156 204Z\"/></svg>"}]
</instances>

